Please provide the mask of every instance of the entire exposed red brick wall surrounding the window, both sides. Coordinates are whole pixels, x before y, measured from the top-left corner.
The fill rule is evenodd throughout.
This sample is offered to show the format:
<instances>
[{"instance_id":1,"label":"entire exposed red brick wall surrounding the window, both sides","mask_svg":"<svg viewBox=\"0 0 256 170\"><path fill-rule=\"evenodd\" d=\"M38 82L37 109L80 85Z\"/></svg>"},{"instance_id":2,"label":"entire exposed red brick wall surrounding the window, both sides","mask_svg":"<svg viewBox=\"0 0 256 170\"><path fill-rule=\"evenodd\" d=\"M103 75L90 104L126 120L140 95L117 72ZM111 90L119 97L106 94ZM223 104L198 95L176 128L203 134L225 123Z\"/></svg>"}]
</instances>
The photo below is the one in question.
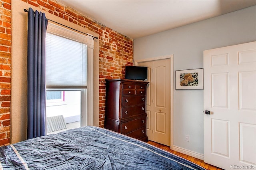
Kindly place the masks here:
<instances>
[{"instance_id":1,"label":"entire exposed red brick wall surrounding the window, both sides","mask_svg":"<svg viewBox=\"0 0 256 170\"><path fill-rule=\"evenodd\" d=\"M83 16L55 0L22 0L99 34L99 94L100 127L105 118L105 79L124 78L125 65L133 65L133 40ZM11 79L11 2L0 0L0 146L10 142L10 79Z\"/></svg>"}]
</instances>

